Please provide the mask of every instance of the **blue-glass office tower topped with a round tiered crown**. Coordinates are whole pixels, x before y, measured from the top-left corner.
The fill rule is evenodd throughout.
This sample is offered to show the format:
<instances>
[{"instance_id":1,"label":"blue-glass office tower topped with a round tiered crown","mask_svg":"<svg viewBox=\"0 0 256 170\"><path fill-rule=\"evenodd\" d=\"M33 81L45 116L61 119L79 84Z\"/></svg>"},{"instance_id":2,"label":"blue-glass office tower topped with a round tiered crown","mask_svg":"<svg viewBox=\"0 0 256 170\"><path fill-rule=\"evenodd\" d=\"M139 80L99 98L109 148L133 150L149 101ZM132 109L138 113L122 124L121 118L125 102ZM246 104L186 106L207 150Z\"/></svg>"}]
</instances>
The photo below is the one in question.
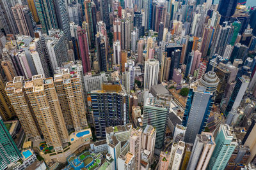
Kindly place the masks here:
<instances>
[{"instance_id":1,"label":"blue-glass office tower topped with a round tiered crown","mask_svg":"<svg viewBox=\"0 0 256 170\"><path fill-rule=\"evenodd\" d=\"M187 127L184 136L186 143L194 143L196 134L204 131L219 81L218 76L209 71L202 78L191 83L182 120L182 125Z\"/></svg>"}]
</instances>

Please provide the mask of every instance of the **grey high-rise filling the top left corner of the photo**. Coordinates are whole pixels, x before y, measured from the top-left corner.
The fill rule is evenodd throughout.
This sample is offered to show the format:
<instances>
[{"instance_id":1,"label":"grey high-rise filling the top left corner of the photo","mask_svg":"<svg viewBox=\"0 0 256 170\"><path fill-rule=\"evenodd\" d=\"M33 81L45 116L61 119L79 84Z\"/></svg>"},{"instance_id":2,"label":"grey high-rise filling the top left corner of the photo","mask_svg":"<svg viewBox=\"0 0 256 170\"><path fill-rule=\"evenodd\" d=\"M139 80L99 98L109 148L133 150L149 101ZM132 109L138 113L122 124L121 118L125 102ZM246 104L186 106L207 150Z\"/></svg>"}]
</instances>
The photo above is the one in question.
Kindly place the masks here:
<instances>
[{"instance_id":1,"label":"grey high-rise filling the top left corner of the photo","mask_svg":"<svg viewBox=\"0 0 256 170\"><path fill-rule=\"evenodd\" d=\"M15 6L10 0L0 1L0 20L6 34L18 34L19 30L15 23L12 7Z\"/></svg>"}]
</instances>

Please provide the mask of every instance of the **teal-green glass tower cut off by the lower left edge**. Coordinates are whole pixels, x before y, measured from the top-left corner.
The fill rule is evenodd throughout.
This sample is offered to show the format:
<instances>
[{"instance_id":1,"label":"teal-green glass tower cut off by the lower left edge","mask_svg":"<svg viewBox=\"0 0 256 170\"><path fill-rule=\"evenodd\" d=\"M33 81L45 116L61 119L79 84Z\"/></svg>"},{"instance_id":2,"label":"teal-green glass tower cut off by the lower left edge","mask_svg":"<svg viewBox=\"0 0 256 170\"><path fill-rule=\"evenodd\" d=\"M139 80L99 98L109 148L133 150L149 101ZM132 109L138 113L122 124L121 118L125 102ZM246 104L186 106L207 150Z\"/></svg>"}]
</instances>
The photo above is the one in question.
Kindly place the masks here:
<instances>
[{"instance_id":1,"label":"teal-green glass tower cut off by the lower left edge","mask_svg":"<svg viewBox=\"0 0 256 170\"><path fill-rule=\"evenodd\" d=\"M0 169L6 169L8 164L19 160L22 156L15 145L12 136L6 129L0 117Z\"/></svg>"}]
</instances>

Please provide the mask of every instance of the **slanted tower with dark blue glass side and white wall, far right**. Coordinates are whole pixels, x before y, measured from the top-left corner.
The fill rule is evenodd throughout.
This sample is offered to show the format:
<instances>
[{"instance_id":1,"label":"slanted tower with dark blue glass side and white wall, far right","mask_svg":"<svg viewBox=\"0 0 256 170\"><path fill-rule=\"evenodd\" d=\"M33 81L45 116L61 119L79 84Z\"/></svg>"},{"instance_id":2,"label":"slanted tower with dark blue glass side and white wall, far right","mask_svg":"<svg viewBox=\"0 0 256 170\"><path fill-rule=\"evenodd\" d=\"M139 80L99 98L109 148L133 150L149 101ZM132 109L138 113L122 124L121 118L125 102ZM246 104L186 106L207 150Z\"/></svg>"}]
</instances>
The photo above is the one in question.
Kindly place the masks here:
<instances>
[{"instance_id":1,"label":"slanted tower with dark blue glass side and white wall, far right","mask_svg":"<svg viewBox=\"0 0 256 170\"><path fill-rule=\"evenodd\" d=\"M227 108L224 113L225 117L228 116L228 113L232 109L236 109L239 107L239 105L243 99L244 92L246 91L246 89L249 85L249 82L250 82L250 78L248 76L243 75L242 77L238 78L236 85L234 87L234 90L232 92L232 95L228 101Z\"/></svg>"}]
</instances>

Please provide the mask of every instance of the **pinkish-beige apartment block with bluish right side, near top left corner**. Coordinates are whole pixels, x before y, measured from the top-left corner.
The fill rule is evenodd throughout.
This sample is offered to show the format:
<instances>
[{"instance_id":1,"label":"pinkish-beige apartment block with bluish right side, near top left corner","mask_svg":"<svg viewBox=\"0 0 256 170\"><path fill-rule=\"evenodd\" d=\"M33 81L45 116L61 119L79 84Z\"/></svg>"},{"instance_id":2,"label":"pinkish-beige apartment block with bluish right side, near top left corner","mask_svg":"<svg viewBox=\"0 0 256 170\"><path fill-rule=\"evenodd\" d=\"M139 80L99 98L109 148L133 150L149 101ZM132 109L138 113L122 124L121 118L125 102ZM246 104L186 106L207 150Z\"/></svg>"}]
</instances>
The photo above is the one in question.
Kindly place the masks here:
<instances>
[{"instance_id":1,"label":"pinkish-beige apartment block with bluish right side, near top left corner","mask_svg":"<svg viewBox=\"0 0 256 170\"><path fill-rule=\"evenodd\" d=\"M17 4L12 7L12 12L20 34L34 37L36 25L28 6Z\"/></svg>"}]
</instances>

